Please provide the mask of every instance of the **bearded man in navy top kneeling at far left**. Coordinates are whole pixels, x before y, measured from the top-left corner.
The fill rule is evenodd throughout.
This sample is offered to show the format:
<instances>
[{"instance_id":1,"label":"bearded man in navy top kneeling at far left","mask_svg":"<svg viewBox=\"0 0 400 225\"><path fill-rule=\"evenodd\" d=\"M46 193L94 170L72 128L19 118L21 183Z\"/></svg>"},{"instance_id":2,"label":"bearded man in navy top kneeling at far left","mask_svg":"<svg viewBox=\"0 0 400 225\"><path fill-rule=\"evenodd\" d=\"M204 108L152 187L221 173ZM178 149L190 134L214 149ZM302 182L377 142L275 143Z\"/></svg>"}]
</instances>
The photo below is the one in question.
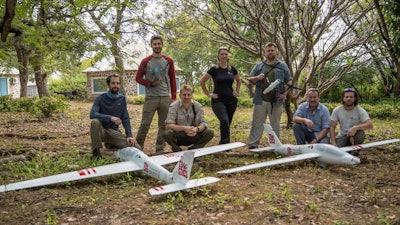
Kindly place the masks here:
<instances>
[{"instance_id":1,"label":"bearded man in navy top kneeling at far left","mask_svg":"<svg viewBox=\"0 0 400 225\"><path fill-rule=\"evenodd\" d=\"M119 94L120 77L116 74L107 77L108 92L96 97L90 111L90 138L94 159L101 158L100 148L111 144L116 148L137 146L132 137L131 122L126 108L126 98ZM119 130L122 124L125 134Z\"/></svg>"}]
</instances>

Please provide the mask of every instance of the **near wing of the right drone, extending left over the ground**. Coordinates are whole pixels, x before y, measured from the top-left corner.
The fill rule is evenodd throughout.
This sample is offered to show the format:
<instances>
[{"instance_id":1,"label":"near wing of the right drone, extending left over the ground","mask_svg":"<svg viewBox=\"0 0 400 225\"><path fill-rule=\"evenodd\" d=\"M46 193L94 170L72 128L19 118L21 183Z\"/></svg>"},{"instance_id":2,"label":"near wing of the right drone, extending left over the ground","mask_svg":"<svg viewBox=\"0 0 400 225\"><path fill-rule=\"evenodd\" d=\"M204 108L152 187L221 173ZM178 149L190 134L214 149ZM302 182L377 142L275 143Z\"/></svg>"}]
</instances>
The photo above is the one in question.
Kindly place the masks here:
<instances>
[{"instance_id":1,"label":"near wing of the right drone, extending left over the ground","mask_svg":"<svg viewBox=\"0 0 400 225\"><path fill-rule=\"evenodd\" d=\"M241 167L236 167L236 168L232 168L232 169L221 170L221 171L218 171L217 173L219 173L219 174L237 173L237 172L267 167L267 166L274 166L274 165L283 164L283 163L318 158L319 156L320 155L318 153L305 153L305 154L299 154L299 155L293 155L293 156L289 156L289 157L285 157L285 158L275 159L275 160L271 160L271 161L250 164L247 166L241 166Z\"/></svg>"}]
</instances>

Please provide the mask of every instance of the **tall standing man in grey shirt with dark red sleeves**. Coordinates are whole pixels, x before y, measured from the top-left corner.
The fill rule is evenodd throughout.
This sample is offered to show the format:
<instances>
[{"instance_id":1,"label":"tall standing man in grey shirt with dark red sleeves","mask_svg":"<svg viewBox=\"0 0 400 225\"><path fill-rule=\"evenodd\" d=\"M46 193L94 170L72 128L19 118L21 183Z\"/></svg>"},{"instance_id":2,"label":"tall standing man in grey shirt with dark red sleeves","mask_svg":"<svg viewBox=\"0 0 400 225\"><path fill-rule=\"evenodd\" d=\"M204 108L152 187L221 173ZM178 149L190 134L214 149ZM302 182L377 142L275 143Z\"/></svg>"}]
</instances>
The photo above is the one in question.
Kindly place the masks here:
<instances>
[{"instance_id":1,"label":"tall standing man in grey shirt with dark red sleeves","mask_svg":"<svg viewBox=\"0 0 400 225\"><path fill-rule=\"evenodd\" d=\"M169 104L176 98L176 78L174 61L162 54L163 39L159 35L152 36L150 45L153 54L144 58L136 74L136 82L146 88L142 121L137 132L136 141L144 149L144 141L149 132L154 114L158 114L158 133L156 153L162 153L165 147L163 133Z\"/></svg>"}]
</instances>

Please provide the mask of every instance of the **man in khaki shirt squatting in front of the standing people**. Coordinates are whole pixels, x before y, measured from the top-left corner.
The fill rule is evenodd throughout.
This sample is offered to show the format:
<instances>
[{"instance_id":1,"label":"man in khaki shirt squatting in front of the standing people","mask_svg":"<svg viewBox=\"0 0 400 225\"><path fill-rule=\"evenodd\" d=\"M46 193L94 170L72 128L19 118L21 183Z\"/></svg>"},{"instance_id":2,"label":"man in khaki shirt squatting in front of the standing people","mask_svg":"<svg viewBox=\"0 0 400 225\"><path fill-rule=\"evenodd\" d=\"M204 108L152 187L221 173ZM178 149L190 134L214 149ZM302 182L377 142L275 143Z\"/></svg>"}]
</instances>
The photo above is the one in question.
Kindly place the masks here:
<instances>
[{"instance_id":1,"label":"man in khaki shirt squatting in front of the standing people","mask_svg":"<svg viewBox=\"0 0 400 225\"><path fill-rule=\"evenodd\" d=\"M164 139L174 152L181 151L180 146L190 146L189 149L202 148L214 137L213 130L208 128L204 120L203 107L192 99L192 92L191 86L182 85L180 100L170 105L165 120L167 130L164 132Z\"/></svg>"}]
</instances>

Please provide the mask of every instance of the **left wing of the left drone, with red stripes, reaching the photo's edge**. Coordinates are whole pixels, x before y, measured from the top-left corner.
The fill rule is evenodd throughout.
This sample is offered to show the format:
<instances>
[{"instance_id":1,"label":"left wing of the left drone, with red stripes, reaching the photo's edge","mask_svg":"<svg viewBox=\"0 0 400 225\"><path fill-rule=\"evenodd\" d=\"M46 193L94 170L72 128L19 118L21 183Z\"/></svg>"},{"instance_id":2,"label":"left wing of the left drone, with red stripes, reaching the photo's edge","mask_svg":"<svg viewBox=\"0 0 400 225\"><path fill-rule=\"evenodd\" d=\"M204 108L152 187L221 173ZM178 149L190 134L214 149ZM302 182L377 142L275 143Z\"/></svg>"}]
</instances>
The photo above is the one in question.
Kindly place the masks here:
<instances>
[{"instance_id":1,"label":"left wing of the left drone, with red stripes, reaching the photo's edge","mask_svg":"<svg viewBox=\"0 0 400 225\"><path fill-rule=\"evenodd\" d=\"M67 181L82 180L92 177L99 177L104 175L111 175L117 173L125 173L131 171L141 170L141 168L134 162L126 161L105 166L87 168L68 173L52 175L48 177L41 177L33 180L26 180L0 186L0 192L13 191L25 188L45 186L49 184L63 183Z\"/></svg>"}]
</instances>

